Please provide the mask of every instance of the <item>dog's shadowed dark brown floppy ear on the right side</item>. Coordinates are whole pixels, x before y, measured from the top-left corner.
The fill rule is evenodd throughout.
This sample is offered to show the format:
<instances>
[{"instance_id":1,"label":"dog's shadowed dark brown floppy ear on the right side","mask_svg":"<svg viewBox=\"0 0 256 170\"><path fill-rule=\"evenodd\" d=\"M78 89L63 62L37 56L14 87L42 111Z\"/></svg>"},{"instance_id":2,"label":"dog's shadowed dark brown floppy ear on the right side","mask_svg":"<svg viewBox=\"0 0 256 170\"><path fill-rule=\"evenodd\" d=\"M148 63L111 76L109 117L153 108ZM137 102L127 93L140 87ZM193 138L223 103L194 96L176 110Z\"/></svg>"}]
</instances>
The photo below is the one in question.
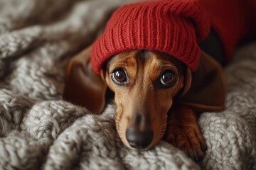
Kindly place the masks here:
<instances>
[{"instance_id":1,"label":"dog's shadowed dark brown floppy ear on the right side","mask_svg":"<svg viewBox=\"0 0 256 170\"><path fill-rule=\"evenodd\" d=\"M192 77L192 78L191 78ZM186 72L180 103L196 111L220 111L225 102L225 78L220 64L202 51L198 69ZM191 84L189 83L191 81Z\"/></svg>"}]
</instances>

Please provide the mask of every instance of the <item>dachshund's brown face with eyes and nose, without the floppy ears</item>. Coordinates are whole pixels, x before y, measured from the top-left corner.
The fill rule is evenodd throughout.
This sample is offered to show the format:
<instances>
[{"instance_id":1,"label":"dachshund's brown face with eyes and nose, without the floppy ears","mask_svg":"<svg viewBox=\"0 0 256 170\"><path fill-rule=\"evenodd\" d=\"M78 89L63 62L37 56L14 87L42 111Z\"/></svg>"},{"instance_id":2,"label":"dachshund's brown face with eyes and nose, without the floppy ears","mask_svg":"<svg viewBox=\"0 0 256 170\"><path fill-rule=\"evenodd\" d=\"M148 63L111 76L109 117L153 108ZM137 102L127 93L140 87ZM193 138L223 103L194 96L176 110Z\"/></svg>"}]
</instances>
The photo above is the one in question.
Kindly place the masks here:
<instances>
[{"instance_id":1,"label":"dachshund's brown face with eyes and nose, without the floppy ears","mask_svg":"<svg viewBox=\"0 0 256 170\"><path fill-rule=\"evenodd\" d=\"M174 97L191 84L185 69L174 57L149 50L122 52L107 62L102 77L114 92L117 131L125 145L145 149L159 142Z\"/></svg>"}]
</instances>

